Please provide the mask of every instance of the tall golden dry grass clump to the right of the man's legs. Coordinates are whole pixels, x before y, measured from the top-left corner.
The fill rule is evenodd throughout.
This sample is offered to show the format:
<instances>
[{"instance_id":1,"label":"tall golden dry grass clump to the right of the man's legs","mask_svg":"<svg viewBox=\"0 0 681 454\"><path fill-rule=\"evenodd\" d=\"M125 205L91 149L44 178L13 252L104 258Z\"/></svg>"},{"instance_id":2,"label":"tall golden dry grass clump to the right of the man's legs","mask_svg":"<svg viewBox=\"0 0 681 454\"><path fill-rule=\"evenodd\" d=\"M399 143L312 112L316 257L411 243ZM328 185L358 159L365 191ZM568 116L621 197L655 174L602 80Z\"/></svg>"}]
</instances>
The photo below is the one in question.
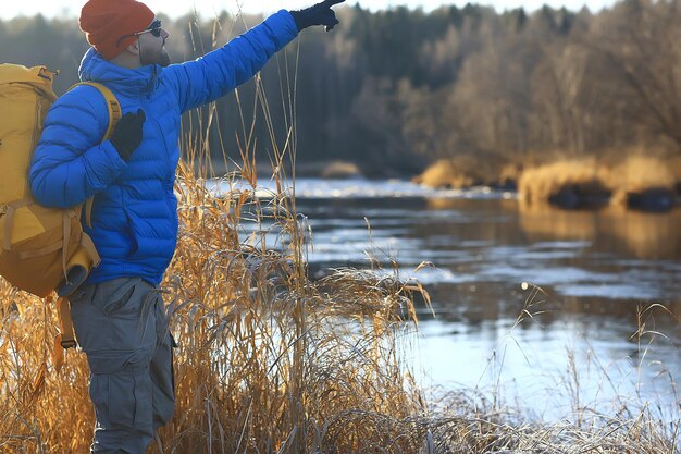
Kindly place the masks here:
<instances>
[{"instance_id":1,"label":"tall golden dry grass clump to the right of the man's legs","mask_svg":"<svg viewBox=\"0 0 681 454\"><path fill-rule=\"evenodd\" d=\"M357 451L371 430L357 431L344 415L420 413L396 329L413 314L412 290L349 270L310 282L304 235L286 205L284 197L261 205L247 192L216 200L185 185L169 282L187 352L178 395L188 398L164 431L169 452L207 438L226 452L313 452L331 440ZM258 230L242 243L246 212ZM194 414L201 424L182 417ZM409 451L410 443L397 445Z\"/></svg>"}]
</instances>

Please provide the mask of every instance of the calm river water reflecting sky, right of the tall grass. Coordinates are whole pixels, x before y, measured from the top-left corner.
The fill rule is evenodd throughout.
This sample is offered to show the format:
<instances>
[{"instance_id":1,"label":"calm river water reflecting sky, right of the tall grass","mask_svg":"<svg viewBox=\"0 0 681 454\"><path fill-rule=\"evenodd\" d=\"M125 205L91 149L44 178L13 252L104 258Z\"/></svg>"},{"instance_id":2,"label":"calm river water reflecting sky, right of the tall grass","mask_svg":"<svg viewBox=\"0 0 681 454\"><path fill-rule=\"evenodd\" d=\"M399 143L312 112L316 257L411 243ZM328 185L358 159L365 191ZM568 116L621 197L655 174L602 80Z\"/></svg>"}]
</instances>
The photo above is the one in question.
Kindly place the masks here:
<instances>
[{"instance_id":1,"label":"calm river water reflecting sky, right of the tall grass","mask_svg":"<svg viewBox=\"0 0 681 454\"><path fill-rule=\"evenodd\" d=\"M433 396L476 390L544 419L645 404L679 418L681 209L527 208L400 181L299 179L295 194L312 273L394 258L424 284L434 315L419 306L408 359Z\"/></svg>"}]
</instances>

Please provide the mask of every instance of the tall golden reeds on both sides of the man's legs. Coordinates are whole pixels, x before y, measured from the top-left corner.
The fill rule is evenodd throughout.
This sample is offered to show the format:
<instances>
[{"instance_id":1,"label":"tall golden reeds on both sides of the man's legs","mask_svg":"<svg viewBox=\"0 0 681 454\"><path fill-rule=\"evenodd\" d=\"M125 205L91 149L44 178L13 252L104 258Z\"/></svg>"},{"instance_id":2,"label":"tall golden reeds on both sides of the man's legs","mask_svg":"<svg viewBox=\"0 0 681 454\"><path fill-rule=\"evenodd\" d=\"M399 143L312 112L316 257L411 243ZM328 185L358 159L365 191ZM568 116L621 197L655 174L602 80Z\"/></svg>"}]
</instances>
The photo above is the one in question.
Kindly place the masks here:
<instances>
[{"instance_id":1,"label":"tall golden reeds on both sides of the man's legs","mask_svg":"<svg viewBox=\"0 0 681 454\"><path fill-rule=\"evenodd\" d=\"M218 198L193 177L183 165L183 228L164 281L181 345L177 405L157 452L356 452L388 441L393 452L414 451L416 433L371 428L370 416L425 410L399 347L418 287L354 270L312 282L281 200L258 206L250 191ZM243 241L246 216L262 230ZM83 354L70 352L55 373L52 308L0 291L0 451L86 452L94 420Z\"/></svg>"}]
</instances>

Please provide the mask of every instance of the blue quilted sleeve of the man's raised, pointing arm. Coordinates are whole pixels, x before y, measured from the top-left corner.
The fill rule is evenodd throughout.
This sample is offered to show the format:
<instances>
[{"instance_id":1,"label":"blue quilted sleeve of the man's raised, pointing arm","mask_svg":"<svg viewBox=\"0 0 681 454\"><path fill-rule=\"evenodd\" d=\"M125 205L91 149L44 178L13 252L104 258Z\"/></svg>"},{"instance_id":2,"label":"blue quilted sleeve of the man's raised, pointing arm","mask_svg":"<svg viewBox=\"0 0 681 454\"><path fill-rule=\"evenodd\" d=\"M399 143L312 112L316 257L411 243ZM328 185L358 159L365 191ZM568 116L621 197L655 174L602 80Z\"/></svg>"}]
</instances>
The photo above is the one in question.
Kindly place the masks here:
<instances>
[{"instance_id":1,"label":"blue quilted sleeve of the man's raised, pointing arm","mask_svg":"<svg viewBox=\"0 0 681 454\"><path fill-rule=\"evenodd\" d=\"M247 82L297 35L293 16L282 10L222 48L166 68L164 75L177 91L182 112L214 101Z\"/></svg>"}]
</instances>

